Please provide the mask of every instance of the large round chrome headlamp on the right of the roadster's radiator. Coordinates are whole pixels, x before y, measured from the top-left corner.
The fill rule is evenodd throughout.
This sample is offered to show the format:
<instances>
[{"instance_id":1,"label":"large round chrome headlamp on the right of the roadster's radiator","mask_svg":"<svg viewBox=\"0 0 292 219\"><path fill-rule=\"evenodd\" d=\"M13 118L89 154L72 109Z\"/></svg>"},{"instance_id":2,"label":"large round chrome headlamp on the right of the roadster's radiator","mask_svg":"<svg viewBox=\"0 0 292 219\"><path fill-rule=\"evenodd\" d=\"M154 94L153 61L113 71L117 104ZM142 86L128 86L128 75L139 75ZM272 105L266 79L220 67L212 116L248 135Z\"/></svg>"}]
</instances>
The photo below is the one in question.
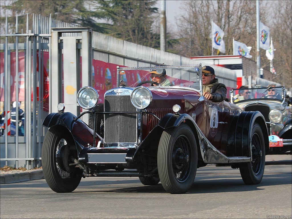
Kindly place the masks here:
<instances>
[{"instance_id":1,"label":"large round chrome headlamp on the right of the roadster's radiator","mask_svg":"<svg viewBox=\"0 0 292 219\"><path fill-rule=\"evenodd\" d=\"M131 93L131 102L138 109L145 109L152 101L151 91L143 86L136 87Z\"/></svg>"}]
</instances>

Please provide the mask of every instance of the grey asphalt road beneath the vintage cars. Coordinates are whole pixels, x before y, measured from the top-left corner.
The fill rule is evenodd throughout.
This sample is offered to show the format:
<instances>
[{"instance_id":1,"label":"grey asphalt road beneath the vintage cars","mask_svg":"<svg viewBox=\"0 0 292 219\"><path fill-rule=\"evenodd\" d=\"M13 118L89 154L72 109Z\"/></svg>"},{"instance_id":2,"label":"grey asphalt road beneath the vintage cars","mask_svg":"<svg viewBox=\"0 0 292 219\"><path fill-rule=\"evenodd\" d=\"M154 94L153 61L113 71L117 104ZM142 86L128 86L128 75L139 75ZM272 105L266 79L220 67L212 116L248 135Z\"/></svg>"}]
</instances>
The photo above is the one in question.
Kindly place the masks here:
<instances>
[{"instance_id":1,"label":"grey asphalt road beneath the vintage cars","mask_svg":"<svg viewBox=\"0 0 292 219\"><path fill-rule=\"evenodd\" d=\"M239 169L199 168L186 194L137 177L82 179L72 193L45 180L1 185L1 218L267 218L292 214L291 158L270 159L259 185L245 185Z\"/></svg>"}]
</instances>

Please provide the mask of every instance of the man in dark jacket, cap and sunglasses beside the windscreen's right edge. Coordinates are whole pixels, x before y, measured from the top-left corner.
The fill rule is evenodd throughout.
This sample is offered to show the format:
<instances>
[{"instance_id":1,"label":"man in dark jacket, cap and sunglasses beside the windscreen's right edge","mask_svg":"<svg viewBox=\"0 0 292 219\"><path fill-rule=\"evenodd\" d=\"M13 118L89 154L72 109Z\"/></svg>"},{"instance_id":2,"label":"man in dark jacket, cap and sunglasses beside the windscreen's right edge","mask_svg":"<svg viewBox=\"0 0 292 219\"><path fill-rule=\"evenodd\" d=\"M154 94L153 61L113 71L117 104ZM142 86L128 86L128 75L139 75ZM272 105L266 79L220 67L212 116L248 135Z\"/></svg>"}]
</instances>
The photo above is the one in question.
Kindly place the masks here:
<instances>
[{"instance_id":1,"label":"man in dark jacket, cap and sunglasses beside the windscreen's right edge","mask_svg":"<svg viewBox=\"0 0 292 219\"><path fill-rule=\"evenodd\" d=\"M226 99L226 86L218 82L215 78L214 69L211 66L205 65L202 67L202 84L203 96L207 100L214 102L222 102Z\"/></svg>"}]
</instances>

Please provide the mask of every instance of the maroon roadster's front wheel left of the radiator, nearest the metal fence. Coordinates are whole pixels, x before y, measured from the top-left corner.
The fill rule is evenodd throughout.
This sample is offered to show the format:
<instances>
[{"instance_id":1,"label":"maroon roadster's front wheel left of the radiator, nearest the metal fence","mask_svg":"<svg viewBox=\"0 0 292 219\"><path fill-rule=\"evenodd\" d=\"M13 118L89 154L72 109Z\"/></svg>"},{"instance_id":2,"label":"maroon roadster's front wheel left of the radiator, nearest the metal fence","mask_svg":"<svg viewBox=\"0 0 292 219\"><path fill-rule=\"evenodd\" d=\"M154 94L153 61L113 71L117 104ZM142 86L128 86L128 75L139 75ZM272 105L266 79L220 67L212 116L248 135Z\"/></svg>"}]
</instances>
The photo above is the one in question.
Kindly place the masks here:
<instances>
[{"instance_id":1,"label":"maroon roadster's front wheel left of the radiator, nearest the metal fence","mask_svg":"<svg viewBox=\"0 0 292 219\"><path fill-rule=\"evenodd\" d=\"M79 168L74 168L74 171L68 173L58 163L57 156L61 147L69 147L70 144L74 144L72 136L66 134L64 128L54 126L46 133L42 148L42 167L46 182L55 192L72 192L81 180Z\"/></svg>"}]
</instances>

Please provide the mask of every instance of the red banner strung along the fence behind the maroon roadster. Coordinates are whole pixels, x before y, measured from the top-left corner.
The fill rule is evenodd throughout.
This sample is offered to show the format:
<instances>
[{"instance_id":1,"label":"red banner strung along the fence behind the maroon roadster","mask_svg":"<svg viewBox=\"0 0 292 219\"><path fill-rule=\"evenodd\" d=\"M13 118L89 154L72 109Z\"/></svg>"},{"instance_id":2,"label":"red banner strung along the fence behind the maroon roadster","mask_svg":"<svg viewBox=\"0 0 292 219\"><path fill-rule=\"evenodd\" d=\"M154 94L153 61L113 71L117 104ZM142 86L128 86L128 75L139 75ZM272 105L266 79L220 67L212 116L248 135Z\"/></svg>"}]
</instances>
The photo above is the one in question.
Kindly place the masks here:
<instances>
[{"instance_id":1,"label":"red banner strung along the fence behind the maroon roadster","mask_svg":"<svg viewBox=\"0 0 292 219\"><path fill-rule=\"evenodd\" d=\"M44 110L48 111L48 104L49 104L49 53L44 52L42 53L42 63L43 63L43 72L44 72L44 84L43 84L43 101L44 101ZM18 100L25 101L25 54L18 53ZM1 53L1 60L0 60L0 76L1 76L1 89L0 89L0 101L4 101L4 53ZM38 54L37 54L37 60ZM82 63L82 61L80 62ZM8 63L9 65L9 63ZM121 66L120 67L126 67ZM81 66L80 66L80 69ZM39 72L39 62L37 61L37 75ZM16 100L16 79L15 79L15 52L11 53L11 62L10 62L10 72L11 72L11 101ZM126 74L122 76L124 80L124 84L126 86L131 86L137 81L140 81L141 78L145 77L148 74L148 71L139 71L138 73L133 71L126 71ZM80 74L82 75L82 74ZM62 77L63 78L63 77ZM82 87L82 78L81 80L81 87ZM105 91L114 88L117 86L117 65L102 62L100 60L92 60L92 87L94 87L99 94L98 102L103 102L103 96ZM227 87L227 98L230 97L229 95L230 87ZM37 87L37 99L39 98L39 87Z\"/></svg>"}]
</instances>

